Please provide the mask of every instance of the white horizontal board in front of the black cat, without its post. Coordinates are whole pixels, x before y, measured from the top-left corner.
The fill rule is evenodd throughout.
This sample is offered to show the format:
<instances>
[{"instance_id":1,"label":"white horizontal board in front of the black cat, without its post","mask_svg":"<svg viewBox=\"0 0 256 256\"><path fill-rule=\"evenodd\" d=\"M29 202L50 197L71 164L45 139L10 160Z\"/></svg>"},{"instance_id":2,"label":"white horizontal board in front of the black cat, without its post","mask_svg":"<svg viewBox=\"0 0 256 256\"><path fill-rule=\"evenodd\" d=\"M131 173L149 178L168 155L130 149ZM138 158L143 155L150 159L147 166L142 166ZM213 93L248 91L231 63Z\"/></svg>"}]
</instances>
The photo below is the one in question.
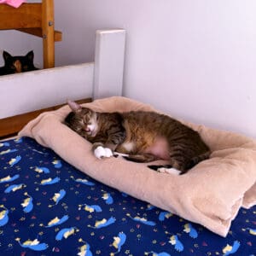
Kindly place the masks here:
<instances>
[{"instance_id":1,"label":"white horizontal board in front of the black cat, without its post","mask_svg":"<svg viewBox=\"0 0 256 256\"><path fill-rule=\"evenodd\" d=\"M0 77L0 119L91 97L93 63Z\"/></svg>"}]
</instances>

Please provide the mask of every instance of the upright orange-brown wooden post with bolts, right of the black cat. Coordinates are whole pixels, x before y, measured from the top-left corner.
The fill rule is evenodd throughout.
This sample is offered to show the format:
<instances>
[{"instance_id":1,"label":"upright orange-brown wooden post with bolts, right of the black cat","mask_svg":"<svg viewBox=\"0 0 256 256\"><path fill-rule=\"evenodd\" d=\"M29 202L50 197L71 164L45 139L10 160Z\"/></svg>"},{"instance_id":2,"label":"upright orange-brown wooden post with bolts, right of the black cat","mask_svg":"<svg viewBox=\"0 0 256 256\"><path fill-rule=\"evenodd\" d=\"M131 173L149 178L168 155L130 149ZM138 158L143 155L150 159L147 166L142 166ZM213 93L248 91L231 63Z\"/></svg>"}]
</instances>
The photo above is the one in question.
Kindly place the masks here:
<instances>
[{"instance_id":1,"label":"upright orange-brown wooden post with bolts, right of the black cat","mask_svg":"<svg viewBox=\"0 0 256 256\"><path fill-rule=\"evenodd\" d=\"M55 67L55 20L53 0L43 0L42 32L44 47L44 68Z\"/></svg>"}]
</instances>

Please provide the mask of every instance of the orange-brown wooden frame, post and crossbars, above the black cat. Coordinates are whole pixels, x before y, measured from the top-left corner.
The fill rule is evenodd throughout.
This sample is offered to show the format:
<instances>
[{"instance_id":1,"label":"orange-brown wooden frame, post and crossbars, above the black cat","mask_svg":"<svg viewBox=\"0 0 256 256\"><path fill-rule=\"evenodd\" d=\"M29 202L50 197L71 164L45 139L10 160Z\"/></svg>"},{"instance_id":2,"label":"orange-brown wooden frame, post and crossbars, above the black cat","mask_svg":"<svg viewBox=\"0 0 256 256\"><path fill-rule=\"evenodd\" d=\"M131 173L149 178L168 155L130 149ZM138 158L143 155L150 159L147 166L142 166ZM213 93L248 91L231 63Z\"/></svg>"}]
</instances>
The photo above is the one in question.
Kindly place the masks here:
<instances>
[{"instance_id":1,"label":"orange-brown wooden frame, post and crossbars, above the black cat","mask_svg":"<svg viewBox=\"0 0 256 256\"><path fill-rule=\"evenodd\" d=\"M43 38L44 68L55 67L55 42L62 34L55 31L53 0L23 3L18 9L0 4L0 30L9 29Z\"/></svg>"}]
</instances>

